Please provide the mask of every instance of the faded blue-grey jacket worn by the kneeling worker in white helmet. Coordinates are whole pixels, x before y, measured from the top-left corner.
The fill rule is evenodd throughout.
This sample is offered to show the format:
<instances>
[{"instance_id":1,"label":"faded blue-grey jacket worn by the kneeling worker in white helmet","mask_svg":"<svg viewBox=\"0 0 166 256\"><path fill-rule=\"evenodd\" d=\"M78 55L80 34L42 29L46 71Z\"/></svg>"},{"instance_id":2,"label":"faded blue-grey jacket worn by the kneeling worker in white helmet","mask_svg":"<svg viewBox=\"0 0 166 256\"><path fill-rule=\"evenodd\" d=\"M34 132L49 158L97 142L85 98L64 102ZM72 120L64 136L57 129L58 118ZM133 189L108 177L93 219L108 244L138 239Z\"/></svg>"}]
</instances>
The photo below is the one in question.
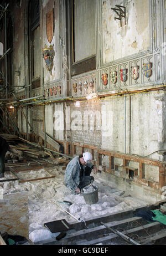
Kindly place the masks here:
<instances>
[{"instance_id":1,"label":"faded blue-grey jacket worn by the kneeling worker in white helmet","mask_svg":"<svg viewBox=\"0 0 166 256\"><path fill-rule=\"evenodd\" d=\"M86 165L82 165L85 173L85 167L88 166L92 168L94 166L94 163L88 162ZM75 156L67 165L66 171L65 171L65 185L69 188L71 191L75 191L76 188L79 186L80 183L80 170L81 166L79 163L79 156ZM85 175L83 173L83 176Z\"/></svg>"}]
</instances>

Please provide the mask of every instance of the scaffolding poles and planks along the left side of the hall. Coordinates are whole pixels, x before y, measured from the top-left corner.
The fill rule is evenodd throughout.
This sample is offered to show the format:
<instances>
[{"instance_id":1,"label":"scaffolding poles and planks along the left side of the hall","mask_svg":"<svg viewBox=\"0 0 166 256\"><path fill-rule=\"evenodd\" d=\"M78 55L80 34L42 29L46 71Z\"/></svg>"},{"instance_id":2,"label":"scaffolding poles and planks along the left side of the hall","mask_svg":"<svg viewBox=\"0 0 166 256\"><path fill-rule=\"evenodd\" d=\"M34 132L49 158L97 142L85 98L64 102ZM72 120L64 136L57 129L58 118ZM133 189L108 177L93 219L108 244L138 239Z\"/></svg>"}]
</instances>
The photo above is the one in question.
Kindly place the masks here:
<instances>
[{"instance_id":1,"label":"scaffolding poles and planks along the left side of the hall","mask_svg":"<svg viewBox=\"0 0 166 256\"><path fill-rule=\"evenodd\" d=\"M35 138L37 139L38 141L38 144L34 144L34 146L37 146L37 147L40 147L40 149L42 150L46 150L46 151L49 151L50 153L51 152L54 152L56 155L61 155L61 156L65 156L65 157L69 157L69 158L72 158L68 155L65 155L63 153L60 153L58 151L54 151L54 150L50 150L48 149L48 147L46 147L46 128L45 128L45 102L46 101L49 101L50 100L46 100L44 99L44 69L42 68L42 74L41 74L41 89L43 90L43 95L40 95L40 96L34 96L34 97L31 97L31 98L27 98L27 88L29 86L32 86L32 84L28 84L27 85L27 79L25 77L25 80L24 80L24 85L10 85L8 83L8 69L7 69L7 66L8 66L8 59L7 59L7 55L8 53L11 51L11 48L7 49L7 12L8 12L8 7L9 7L9 3L6 4L6 2L4 2L4 7L2 6L2 4L0 4L0 21L1 19L3 18L4 16L4 54L3 56L0 58L0 61L3 60L5 58L5 74L2 74L2 72L0 71L0 75L2 76L2 78L4 79L4 85L0 86L0 92L4 90L4 93L6 94L4 96L3 99L0 99L0 109L2 111L2 113L4 114L4 116L7 117L9 123L11 124L11 127L14 128L14 134L17 133L19 135L19 139L23 139L23 136L22 136L22 132L19 131L19 127L17 126L17 124L15 123L15 120L12 119L12 116L9 114L9 111L7 109L7 106L8 105L13 105L14 107L19 107L20 111L22 112L23 116L25 117L25 120L26 120L26 131L27 131L27 143L31 143L28 141L28 138L29 138L29 134L28 134L28 125L30 126L30 129L32 130ZM13 83L14 83L14 80L13 80ZM12 89L14 87L16 87L17 89L15 90L12 90L12 93L9 92L9 87L11 87ZM2 88L2 89L1 89ZM19 88L19 89L18 89ZM15 96L15 93L20 91L20 90L25 90L25 99L17 99L16 96ZM8 94L12 94L14 96L14 99L12 98L9 98L8 97ZM61 100L66 100L66 99L70 99L68 97L61 97L61 98L55 98L55 99L51 99L51 101L61 101ZM35 100L39 100L39 101L35 101ZM30 102L29 102L30 101ZM20 105L21 104L21 105ZM33 105L33 104L42 104L44 106L44 112L43 112L43 115L44 115L44 136L45 136L45 146L43 146L39 139L38 139L38 136L35 134L34 130L33 130L33 127L32 125L30 124L29 120L28 120L28 105ZM24 111L22 109L22 106L25 107L25 113L24 114ZM15 109L14 109L15 110ZM2 119L2 120L1 120ZM11 132L9 131L7 125L5 124L5 120L3 119L2 115L0 115L0 122L2 123L3 127L6 129L6 131L11 134Z\"/></svg>"}]
</instances>

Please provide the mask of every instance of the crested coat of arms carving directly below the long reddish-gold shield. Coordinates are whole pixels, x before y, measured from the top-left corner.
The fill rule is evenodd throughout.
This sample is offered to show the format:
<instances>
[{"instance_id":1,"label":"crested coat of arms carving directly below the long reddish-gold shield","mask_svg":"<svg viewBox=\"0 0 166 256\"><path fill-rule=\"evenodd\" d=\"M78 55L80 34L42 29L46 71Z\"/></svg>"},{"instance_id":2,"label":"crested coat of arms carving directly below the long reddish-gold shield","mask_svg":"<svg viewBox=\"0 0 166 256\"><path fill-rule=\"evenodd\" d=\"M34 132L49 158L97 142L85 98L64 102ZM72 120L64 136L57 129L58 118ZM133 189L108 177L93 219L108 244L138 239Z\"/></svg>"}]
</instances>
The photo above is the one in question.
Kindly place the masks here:
<instances>
[{"instance_id":1,"label":"crested coat of arms carving directly below the long reddish-gold shield","mask_svg":"<svg viewBox=\"0 0 166 256\"><path fill-rule=\"evenodd\" d=\"M46 69L49 70L50 75L52 75L52 69L54 65L54 48L53 45L50 44L49 47L47 45L44 45L43 49L43 58L46 63Z\"/></svg>"}]
</instances>

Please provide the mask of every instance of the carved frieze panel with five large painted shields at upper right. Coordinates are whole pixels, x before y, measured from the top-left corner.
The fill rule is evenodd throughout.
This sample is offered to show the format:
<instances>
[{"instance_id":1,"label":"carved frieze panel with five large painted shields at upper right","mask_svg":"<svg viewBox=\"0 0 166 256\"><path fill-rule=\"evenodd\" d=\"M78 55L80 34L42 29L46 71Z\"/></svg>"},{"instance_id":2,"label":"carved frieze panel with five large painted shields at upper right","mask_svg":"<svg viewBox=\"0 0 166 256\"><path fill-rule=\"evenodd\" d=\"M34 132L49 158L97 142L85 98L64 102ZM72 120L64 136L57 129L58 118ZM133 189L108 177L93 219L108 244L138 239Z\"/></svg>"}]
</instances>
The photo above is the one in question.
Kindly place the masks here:
<instances>
[{"instance_id":1,"label":"carved frieze panel with five large painted shields at upper right","mask_svg":"<svg viewBox=\"0 0 166 256\"><path fill-rule=\"evenodd\" d=\"M159 54L152 54L100 69L97 71L97 92L159 83L159 65Z\"/></svg>"}]
</instances>

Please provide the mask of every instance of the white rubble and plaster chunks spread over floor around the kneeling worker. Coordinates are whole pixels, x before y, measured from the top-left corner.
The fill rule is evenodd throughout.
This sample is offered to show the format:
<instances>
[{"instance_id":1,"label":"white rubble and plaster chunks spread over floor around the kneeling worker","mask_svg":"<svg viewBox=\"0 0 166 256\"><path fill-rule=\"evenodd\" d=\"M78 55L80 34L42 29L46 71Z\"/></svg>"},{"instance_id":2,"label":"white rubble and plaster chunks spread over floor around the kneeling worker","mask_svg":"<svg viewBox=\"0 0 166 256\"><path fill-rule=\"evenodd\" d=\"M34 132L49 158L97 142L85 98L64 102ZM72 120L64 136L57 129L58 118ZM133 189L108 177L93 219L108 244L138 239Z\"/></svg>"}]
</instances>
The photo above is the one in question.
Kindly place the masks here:
<instances>
[{"instance_id":1,"label":"white rubble and plaster chunks spread over floor around the kneeling worker","mask_svg":"<svg viewBox=\"0 0 166 256\"><path fill-rule=\"evenodd\" d=\"M103 214L124 211L132 207L138 207L143 202L137 200L128 200L121 198L116 193L113 193L108 185L103 184L100 178L100 173L94 175L94 186L98 187L98 202L96 204L86 204L82 194L71 194L68 188L64 185L64 173L61 168L56 167L49 170L55 178L45 180L19 183L19 181L1 182L3 193L13 193L28 191L28 209L29 209L29 239L32 242L56 237L58 234L51 233L44 227L44 223L66 219L69 223L76 222L76 219L90 219ZM28 176L29 174L29 176ZM23 179L35 177L43 177L44 170L22 172ZM6 173L5 178L8 174ZM92 189L92 186L91 186ZM58 201L69 201L72 204L69 206ZM146 203L144 203L146 204ZM63 211L60 207L68 211L72 216Z\"/></svg>"}]
</instances>

